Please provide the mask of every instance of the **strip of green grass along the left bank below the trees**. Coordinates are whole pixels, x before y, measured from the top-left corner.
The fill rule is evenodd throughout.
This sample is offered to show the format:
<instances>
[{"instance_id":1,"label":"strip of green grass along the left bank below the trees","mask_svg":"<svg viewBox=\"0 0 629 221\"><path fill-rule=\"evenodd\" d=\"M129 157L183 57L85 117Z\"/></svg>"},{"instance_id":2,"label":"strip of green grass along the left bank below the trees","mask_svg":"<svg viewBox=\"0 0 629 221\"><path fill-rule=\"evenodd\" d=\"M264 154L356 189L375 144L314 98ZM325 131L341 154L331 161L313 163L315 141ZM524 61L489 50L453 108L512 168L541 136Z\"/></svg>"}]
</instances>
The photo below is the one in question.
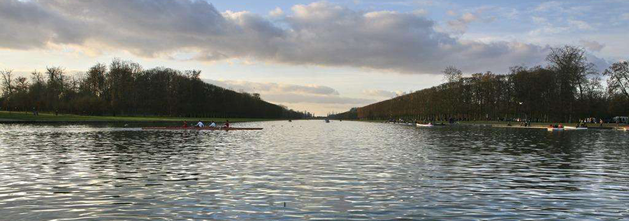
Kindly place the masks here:
<instances>
[{"instance_id":1,"label":"strip of green grass along the left bank below the trees","mask_svg":"<svg viewBox=\"0 0 629 221\"><path fill-rule=\"evenodd\" d=\"M157 116L84 116L84 115L71 115L71 114L59 114L52 113L39 113L39 115L33 115L33 113L24 112L8 112L0 111L0 121L59 121L59 122L182 122L188 121L188 123L202 120L203 122L215 121L215 122L252 122L252 121L268 121L278 119L261 119L261 118L210 118L210 117L157 117Z\"/></svg>"}]
</instances>

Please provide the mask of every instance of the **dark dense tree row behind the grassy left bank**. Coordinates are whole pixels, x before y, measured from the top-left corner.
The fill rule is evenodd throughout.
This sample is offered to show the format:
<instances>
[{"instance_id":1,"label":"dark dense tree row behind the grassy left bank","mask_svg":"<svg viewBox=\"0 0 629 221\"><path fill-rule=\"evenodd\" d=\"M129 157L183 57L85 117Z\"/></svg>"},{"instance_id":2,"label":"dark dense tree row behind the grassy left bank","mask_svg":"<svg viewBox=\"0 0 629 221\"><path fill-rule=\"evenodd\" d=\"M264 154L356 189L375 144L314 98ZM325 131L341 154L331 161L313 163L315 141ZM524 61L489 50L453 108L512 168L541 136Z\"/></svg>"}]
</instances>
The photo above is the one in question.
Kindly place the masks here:
<instances>
[{"instance_id":1,"label":"dark dense tree row behind the grassy left bank","mask_svg":"<svg viewBox=\"0 0 629 221\"><path fill-rule=\"evenodd\" d=\"M30 80L0 71L3 110L79 115L301 118L304 113L270 104L259 94L238 93L204 83L201 71L178 71L114 59L85 73L60 67L34 71Z\"/></svg>"}]
</instances>

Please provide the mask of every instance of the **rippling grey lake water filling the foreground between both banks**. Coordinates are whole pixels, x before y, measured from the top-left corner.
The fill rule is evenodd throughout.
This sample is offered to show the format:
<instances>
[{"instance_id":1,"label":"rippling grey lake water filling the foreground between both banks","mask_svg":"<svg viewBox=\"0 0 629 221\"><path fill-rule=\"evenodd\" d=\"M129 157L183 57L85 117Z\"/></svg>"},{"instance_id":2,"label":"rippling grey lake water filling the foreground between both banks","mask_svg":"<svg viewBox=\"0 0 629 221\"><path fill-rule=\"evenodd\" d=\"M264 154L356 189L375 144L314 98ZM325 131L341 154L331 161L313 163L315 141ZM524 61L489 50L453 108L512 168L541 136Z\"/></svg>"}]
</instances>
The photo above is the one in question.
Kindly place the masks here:
<instances>
[{"instance_id":1,"label":"rippling grey lake water filling the foreground between both banks","mask_svg":"<svg viewBox=\"0 0 629 221\"><path fill-rule=\"evenodd\" d=\"M234 126L0 125L0 220L629 219L624 131Z\"/></svg>"}]
</instances>

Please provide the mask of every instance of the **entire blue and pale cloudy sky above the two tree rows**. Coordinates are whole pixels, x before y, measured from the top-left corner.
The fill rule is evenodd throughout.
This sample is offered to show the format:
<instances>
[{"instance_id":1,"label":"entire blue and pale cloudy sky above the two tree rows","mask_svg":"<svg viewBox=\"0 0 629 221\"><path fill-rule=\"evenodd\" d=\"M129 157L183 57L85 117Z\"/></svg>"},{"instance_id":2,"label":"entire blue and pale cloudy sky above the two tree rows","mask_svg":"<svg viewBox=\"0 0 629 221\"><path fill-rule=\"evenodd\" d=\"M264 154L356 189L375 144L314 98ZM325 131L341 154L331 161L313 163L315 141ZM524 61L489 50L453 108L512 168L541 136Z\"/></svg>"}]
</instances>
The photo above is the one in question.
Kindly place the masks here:
<instances>
[{"instance_id":1,"label":"entire blue and pale cloudy sky above the two tree rows","mask_svg":"<svg viewBox=\"0 0 629 221\"><path fill-rule=\"evenodd\" d=\"M545 65L561 45L603 70L629 58L627 36L627 0L0 0L0 69L119 57L316 115L438 85L446 66Z\"/></svg>"}]
</instances>

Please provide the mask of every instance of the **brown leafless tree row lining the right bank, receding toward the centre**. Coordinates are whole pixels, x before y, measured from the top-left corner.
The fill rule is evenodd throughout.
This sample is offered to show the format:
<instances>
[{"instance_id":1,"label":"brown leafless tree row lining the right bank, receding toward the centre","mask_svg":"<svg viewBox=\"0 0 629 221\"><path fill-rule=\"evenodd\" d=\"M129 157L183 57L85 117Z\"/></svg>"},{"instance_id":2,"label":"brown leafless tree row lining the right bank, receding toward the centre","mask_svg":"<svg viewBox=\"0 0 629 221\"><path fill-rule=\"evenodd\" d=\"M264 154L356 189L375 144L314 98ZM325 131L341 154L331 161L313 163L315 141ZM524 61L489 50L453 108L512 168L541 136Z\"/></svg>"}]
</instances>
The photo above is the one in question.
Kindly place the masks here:
<instances>
[{"instance_id":1,"label":"brown leafless tree row lining the right bank, receding toward the centre","mask_svg":"<svg viewBox=\"0 0 629 221\"><path fill-rule=\"evenodd\" d=\"M441 85L333 117L575 122L629 115L629 62L617 62L599 73L583 48L570 45L551 48L546 60L547 66L514 66L506 74L468 77L449 66Z\"/></svg>"}]
</instances>

